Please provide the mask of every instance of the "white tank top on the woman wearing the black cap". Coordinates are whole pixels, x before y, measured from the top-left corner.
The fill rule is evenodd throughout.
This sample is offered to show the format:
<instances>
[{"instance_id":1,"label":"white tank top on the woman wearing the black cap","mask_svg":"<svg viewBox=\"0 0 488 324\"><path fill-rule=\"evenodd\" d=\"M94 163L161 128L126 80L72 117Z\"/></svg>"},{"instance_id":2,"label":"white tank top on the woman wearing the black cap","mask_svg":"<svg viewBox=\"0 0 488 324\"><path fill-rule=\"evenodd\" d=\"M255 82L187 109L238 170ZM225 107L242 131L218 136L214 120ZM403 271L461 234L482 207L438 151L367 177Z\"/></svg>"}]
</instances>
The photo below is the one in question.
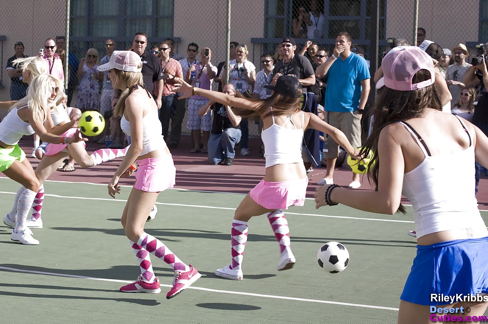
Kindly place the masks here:
<instances>
[{"instance_id":1,"label":"white tank top on the woman wearing the black cap","mask_svg":"<svg viewBox=\"0 0 488 324\"><path fill-rule=\"evenodd\" d=\"M273 109L271 108L271 111ZM261 139L264 144L264 159L266 160L266 168L277 164L289 163L303 163L302 159L302 141L304 137L303 125L305 122L305 113L302 112L302 127L298 128L291 120L291 116L285 120L295 127L295 129L284 128L283 125L278 126L273 124L261 132Z\"/></svg>"}]
</instances>

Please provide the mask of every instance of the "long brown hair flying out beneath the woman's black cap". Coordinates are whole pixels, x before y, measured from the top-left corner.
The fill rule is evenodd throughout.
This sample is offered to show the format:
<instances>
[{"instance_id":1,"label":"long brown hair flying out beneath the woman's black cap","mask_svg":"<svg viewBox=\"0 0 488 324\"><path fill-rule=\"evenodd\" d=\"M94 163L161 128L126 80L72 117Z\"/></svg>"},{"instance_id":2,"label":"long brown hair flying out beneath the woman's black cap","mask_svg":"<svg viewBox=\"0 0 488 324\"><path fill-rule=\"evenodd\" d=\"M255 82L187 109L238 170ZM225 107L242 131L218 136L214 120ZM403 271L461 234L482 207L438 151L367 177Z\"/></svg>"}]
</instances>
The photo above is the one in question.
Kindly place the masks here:
<instances>
[{"instance_id":1,"label":"long brown hair flying out beneath the woman's black cap","mask_svg":"<svg viewBox=\"0 0 488 324\"><path fill-rule=\"evenodd\" d=\"M302 89L299 89L296 94L294 95L302 95ZM236 96L241 98L246 98L252 102L261 103L257 110L248 110L248 109L241 109L241 108L232 108L235 114L241 117L247 117L250 120L256 120L258 118L266 118L271 115L273 116L281 116L281 115L291 115L295 114L300 109L300 97L295 97L294 95L282 95L275 91L273 95L271 95L267 99L256 99L253 97L248 97L243 95L242 93L238 92ZM273 110L271 111L271 107Z\"/></svg>"}]
</instances>

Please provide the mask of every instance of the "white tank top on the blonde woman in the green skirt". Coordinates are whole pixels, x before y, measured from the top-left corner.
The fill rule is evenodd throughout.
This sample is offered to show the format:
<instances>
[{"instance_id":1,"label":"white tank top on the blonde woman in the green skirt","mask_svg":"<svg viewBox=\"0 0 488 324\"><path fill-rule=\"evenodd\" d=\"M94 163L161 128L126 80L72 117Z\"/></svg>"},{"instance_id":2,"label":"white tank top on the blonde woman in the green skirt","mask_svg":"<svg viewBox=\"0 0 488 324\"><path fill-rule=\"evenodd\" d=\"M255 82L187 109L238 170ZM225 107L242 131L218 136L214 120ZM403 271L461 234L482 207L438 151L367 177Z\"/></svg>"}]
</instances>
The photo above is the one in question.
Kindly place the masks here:
<instances>
[{"instance_id":1,"label":"white tank top on the blonde woman in the green skirt","mask_svg":"<svg viewBox=\"0 0 488 324\"><path fill-rule=\"evenodd\" d=\"M15 145L23 135L32 135L34 129L29 123L20 119L17 111L27 108L27 105L12 109L0 122L0 141L7 145Z\"/></svg>"}]
</instances>

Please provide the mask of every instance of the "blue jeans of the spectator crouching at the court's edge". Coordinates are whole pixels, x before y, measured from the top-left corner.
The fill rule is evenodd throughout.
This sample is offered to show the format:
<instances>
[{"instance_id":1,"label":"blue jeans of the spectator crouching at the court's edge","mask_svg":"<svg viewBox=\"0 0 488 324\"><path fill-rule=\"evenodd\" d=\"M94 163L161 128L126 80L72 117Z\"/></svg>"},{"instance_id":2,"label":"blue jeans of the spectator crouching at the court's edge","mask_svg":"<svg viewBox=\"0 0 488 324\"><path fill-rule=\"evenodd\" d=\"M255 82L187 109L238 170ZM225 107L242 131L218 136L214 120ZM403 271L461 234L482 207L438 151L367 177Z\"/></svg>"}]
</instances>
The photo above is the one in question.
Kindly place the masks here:
<instances>
[{"instance_id":1,"label":"blue jeans of the spectator crouching at the court's edge","mask_svg":"<svg viewBox=\"0 0 488 324\"><path fill-rule=\"evenodd\" d=\"M234 158L234 146L241 140L241 130L227 128L222 134L210 134L208 139L208 162L219 164L224 158Z\"/></svg>"}]
</instances>

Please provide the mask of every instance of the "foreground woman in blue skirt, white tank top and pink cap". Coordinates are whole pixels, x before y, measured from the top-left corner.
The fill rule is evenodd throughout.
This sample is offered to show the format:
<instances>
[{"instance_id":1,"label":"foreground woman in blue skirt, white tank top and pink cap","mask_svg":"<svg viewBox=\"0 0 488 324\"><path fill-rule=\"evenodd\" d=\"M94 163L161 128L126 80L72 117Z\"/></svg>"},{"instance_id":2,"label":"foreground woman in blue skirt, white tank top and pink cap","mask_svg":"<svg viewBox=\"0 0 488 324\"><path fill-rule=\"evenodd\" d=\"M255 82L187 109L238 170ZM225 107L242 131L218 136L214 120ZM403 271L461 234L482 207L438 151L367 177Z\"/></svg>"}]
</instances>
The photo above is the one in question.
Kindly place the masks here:
<instances>
[{"instance_id":1,"label":"foreground woman in blue skirt, white tank top and pink cap","mask_svg":"<svg viewBox=\"0 0 488 324\"><path fill-rule=\"evenodd\" d=\"M477 321L488 305L488 231L474 196L473 165L476 157L488 166L488 138L463 118L442 112L432 58L424 51L403 47L382 64L385 89L363 149L373 154L368 175L375 191L319 187L317 208L341 203L405 213L405 195L413 207L417 255L400 297L398 323L442 323L444 315L449 322L451 316ZM455 177L446 163L451 159L458 163ZM439 307L454 307L455 313L438 313ZM470 312L461 310L467 307Z\"/></svg>"}]
</instances>

